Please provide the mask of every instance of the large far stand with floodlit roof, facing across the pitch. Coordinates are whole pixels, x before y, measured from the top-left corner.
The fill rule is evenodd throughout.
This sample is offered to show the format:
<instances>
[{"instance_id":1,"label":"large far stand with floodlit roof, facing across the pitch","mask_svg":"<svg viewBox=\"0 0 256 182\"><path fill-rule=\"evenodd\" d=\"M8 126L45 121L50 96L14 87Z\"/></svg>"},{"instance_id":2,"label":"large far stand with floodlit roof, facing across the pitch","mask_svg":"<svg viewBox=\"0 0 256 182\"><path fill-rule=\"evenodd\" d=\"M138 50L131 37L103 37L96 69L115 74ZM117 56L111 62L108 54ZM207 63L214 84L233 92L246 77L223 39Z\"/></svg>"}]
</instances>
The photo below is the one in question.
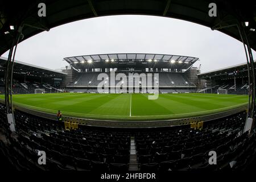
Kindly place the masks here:
<instances>
[{"instance_id":1,"label":"large far stand with floodlit roof, facing across the pitch","mask_svg":"<svg viewBox=\"0 0 256 182\"><path fill-rule=\"evenodd\" d=\"M127 76L125 82L115 80L118 83L131 87L139 87L137 92L143 93L143 84L140 74L152 74L152 81L159 87L159 93L191 93L196 92L198 80L195 79L199 73L197 68L192 67L197 57L162 55L153 53L110 53L101 55L85 55L65 57L71 69L64 70L68 73L66 88L68 92L97 93L97 86L102 80L97 76L106 73L106 80L110 79L110 73L123 73ZM138 75L129 74L138 73ZM154 76L158 74L158 78ZM137 81L137 82L136 82ZM127 82L127 83L126 83ZM134 83L135 82L135 83ZM154 85L154 83L152 83ZM110 84L104 84L109 87ZM119 90L115 90L119 93ZM135 88L134 88L135 92ZM144 93L150 93L148 90Z\"/></svg>"}]
</instances>

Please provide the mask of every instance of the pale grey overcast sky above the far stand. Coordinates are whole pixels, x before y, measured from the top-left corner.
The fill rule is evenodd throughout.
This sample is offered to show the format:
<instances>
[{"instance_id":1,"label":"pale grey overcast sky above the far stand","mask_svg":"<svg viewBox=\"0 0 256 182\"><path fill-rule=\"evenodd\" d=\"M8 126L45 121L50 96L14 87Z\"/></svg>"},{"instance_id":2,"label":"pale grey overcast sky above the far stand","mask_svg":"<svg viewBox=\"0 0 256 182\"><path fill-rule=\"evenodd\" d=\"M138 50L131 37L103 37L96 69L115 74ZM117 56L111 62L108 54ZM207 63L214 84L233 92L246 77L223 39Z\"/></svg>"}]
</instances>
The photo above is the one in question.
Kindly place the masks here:
<instances>
[{"instance_id":1,"label":"pale grey overcast sky above the far stand","mask_svg":"<svg viewBox=\"0 0 256 182\"><path fill-rule=\"evenodd\" d=\"M199 57L195 66L201 64L201 72L246 62L242 43L228 35L183 20L142 15L91 18L52 28L20 43L15 60L60 69L68 65L63 57L97 53Z\"/></svg>"}]
</instances>

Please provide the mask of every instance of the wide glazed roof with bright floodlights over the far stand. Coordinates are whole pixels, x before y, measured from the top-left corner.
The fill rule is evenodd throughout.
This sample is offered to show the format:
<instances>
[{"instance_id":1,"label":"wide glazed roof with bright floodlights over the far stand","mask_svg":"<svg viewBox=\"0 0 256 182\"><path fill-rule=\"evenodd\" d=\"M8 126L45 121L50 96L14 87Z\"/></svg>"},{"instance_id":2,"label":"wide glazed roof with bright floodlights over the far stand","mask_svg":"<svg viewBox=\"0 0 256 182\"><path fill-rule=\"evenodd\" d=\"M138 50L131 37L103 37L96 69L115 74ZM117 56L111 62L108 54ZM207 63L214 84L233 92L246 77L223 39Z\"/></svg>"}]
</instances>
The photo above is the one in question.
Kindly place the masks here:
<instances>
[{"instance_id":1,"label":"wide glazed roof with bright floodlights over the far stand","mask_svg":"<svg viewBox=\"0 0 256 182\"><path fill-rule=\"evenodd\" d=\"M64 57L75 69L85 68L173 68L188 69L199 58L155 53L109 53Z\"/></svg>"}]
</instances>

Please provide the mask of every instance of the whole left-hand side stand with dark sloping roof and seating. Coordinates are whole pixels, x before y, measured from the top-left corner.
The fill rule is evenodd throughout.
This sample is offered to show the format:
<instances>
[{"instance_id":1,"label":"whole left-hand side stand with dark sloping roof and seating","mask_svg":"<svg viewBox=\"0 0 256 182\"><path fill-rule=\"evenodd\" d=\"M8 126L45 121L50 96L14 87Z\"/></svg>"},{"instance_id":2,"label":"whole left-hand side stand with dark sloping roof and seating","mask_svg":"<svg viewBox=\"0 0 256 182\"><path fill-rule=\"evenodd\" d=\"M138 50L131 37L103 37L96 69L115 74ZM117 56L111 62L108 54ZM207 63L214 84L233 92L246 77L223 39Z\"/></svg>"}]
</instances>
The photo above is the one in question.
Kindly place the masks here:
<instances>
[{"instance_id":1,"label":"whole left-hand side stand with dark sloping roof and seating","mask_svg":"<svg viewBox=\"0 0 256 182\"><path fill-rule=\"evenodd\" d=\"M6 57L0 57L0 92L5 93ZM63 92L63 81L67 73L48 68L38 67L22 61L14 61L12 94L35 93L44 90L45 93Z\"/></svg>"}]
</instances>

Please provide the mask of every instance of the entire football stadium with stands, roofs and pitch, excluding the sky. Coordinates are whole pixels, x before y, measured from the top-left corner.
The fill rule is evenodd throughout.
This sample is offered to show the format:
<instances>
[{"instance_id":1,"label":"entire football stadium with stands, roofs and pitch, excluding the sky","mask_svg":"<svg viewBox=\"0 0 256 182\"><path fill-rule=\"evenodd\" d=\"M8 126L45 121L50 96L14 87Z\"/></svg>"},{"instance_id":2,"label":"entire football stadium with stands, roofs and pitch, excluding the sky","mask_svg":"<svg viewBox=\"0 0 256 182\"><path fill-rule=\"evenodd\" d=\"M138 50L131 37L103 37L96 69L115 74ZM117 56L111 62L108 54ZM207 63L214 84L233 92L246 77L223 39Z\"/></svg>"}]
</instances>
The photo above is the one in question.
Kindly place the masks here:
<instances>
[{"instance_id":1,"label":"entire football stadium with stands, roofs and pitch, excluding the sky","mask_svg":"<svg viewBox=\"0 0 256 182\"><path fill-rule=\"evenodd\" d=\"M0 57L1 169L106 173L254 169L255 10L247 11L249 6L240 3L233 3L231 10L231 2L216 1L219 22L220 18L208 16L209 3L46 1L49 15L35 19L38 2L20 3L20 11L4 2L0 55L6 51L9 55ZM201 73L204 63L195 66L200 57L171 51L63 56L67 66L58 70L15 59L18 43L42 31L120 14L203 24L242 42L245 61Z\"/></svg>"}]
</instances>

